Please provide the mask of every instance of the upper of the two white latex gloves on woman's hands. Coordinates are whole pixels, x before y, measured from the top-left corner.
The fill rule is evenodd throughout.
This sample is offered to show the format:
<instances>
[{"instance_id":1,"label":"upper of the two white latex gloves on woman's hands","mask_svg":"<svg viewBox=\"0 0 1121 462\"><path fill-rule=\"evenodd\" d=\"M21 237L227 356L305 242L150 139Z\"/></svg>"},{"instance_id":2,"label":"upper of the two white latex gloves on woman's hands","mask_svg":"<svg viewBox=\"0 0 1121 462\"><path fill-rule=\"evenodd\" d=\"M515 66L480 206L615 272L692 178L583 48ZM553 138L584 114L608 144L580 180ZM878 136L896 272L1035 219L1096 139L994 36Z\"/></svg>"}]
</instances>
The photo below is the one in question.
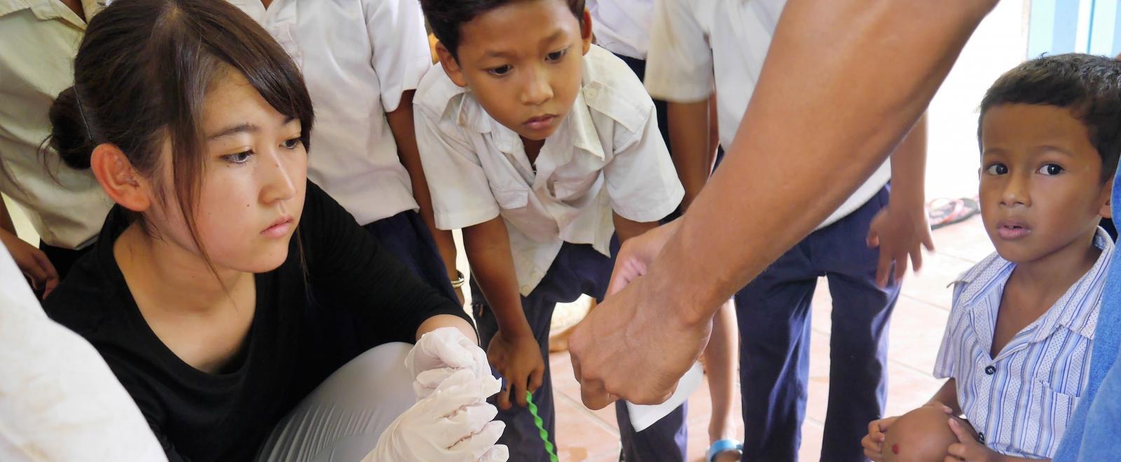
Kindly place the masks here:
<instances>
[{"instance_id":1,"label":"upper of the two white latex gloves on woman's hands","mask_svg":"<svg viewBox=\"0 0 1121 462\"><path fill-rule=\"evenodd\" d=\"M474 377L491 376L487 352L455 327L441 327L421 335L405 357L405 367L416 379L413 391L417 399L427 398L458 370L471 370Z\"/></svg>"}]
</instances>

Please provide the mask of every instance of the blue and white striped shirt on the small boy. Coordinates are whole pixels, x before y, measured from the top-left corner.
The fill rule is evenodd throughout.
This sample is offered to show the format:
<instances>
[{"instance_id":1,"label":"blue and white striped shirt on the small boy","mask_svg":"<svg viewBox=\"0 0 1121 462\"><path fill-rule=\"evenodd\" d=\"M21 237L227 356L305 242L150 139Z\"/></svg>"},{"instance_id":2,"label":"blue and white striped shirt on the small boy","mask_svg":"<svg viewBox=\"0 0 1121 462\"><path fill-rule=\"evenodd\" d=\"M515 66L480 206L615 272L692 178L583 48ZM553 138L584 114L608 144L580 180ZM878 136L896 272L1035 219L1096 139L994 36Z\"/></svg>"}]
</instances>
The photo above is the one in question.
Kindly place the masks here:
<instances>
[{"instance_id":1,"label":"blue and white striped shirt on the small boy","mask_svg":"<svg viewBox=\"0 0 1121 462\"><path fill-rule=\"evenodd\" d=\"M1086 387L1113 243L1099 229L1094 246L1102 249L1094 266L995 358L992 335L1016 265L993 253L954 281L934 375L956 379L962 412L1001 454L1050 459Z\"/></svg>"}]
</instances>

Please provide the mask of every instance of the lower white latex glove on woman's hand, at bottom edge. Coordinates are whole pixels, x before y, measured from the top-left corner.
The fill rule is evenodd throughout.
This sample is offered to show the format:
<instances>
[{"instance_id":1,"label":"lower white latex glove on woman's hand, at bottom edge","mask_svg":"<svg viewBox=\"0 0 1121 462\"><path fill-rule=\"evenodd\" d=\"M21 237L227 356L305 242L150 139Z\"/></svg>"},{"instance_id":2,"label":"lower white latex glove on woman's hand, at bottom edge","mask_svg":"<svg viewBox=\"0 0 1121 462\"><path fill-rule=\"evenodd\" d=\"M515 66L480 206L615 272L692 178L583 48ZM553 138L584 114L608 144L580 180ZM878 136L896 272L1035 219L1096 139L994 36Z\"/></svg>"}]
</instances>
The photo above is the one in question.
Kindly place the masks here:
<instances>
[{"instance_id":1,"label":"lower white latex glove on woman's hand, at bottom edge","mask_svg":"<svg viewBox=\"0 0 1121 462\"><path fill-rule=\"evenodd\" d=\"M363 462L504 462L509 450L494 443L506 424L492 422L498 408L487 403L500 387L490 371L455 371L389 424Z\"/></svg>"}]
</instances>

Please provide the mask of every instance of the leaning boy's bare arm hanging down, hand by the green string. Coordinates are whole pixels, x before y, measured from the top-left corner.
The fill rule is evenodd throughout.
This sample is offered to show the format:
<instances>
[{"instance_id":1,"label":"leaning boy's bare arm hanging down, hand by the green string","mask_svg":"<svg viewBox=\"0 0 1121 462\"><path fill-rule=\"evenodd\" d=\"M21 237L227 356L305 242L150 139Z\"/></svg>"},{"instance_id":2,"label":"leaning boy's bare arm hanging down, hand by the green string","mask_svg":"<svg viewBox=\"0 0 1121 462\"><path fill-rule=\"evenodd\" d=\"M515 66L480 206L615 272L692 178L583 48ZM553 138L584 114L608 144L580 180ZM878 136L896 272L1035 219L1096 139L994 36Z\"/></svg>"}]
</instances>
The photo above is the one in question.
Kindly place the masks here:
<instances>
[{"instance_id":1,"label":"leaning boy's bare arm hanging down, hand by the green string","mask_svg":"<svg viewBox=\"0 0 1121 462\"><path fill-rule=\"evenodd\" d=\"M498 405L502 409L510 408L511 401L525 406L526 391L541 386L545 360L521 307L510 235L502 218L464 228L463 247L471 261L471 276L498 321L499 332L487 346L488 360L507 380L498 394Z\"/></svg>"}]
</instances>

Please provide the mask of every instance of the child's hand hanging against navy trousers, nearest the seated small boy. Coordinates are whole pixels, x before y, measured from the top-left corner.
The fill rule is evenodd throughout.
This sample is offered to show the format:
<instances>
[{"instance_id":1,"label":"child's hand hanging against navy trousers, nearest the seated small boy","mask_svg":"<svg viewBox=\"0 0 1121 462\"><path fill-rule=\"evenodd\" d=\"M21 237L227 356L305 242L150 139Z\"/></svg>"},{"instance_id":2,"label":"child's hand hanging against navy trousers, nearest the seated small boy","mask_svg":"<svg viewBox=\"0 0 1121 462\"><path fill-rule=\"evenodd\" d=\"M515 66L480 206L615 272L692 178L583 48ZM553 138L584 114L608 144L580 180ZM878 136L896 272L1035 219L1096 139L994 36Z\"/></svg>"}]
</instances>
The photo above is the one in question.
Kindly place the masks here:
<instances>
[{"instance_id":1,"label":"child's hand hanging against navy trousers, nearest the seated small boy","mask_svg":"<svg viewBox=\"0 0 1121 462\"><path fill-rule=\"evenodd\" d=\"M891 206L880 210L868 227L868 247L880 248L880 264L876 268L876 283L887 287L891 278L891 264L896 266L895 279L907 274L907 256L916 271L923 267L923 247L934 250L934 237L924 207Z\"/></svg>"}]
</instances>

